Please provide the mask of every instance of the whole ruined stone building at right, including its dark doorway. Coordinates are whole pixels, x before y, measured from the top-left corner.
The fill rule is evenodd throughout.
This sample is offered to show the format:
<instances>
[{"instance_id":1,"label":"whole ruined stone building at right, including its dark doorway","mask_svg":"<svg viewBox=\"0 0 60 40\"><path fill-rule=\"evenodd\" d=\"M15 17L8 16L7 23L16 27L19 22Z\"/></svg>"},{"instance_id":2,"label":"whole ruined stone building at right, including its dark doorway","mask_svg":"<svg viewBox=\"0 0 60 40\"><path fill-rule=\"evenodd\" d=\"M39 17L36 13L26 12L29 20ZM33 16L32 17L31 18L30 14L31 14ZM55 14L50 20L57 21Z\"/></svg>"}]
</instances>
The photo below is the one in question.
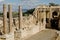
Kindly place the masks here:
<instances>
[{"instance_id":1,"label":"whole ruined stone building at right, including its dark doorway","mask_svg":"<svg viewBox=\"0 0 60 40\"><path fill-rule=\"evenodd\" d=\"M60 29L60 6L40 5L35 8L33 14L35 23L38 22L40 25L40 30L45 28Z\"/></svg>"}]
</instances>

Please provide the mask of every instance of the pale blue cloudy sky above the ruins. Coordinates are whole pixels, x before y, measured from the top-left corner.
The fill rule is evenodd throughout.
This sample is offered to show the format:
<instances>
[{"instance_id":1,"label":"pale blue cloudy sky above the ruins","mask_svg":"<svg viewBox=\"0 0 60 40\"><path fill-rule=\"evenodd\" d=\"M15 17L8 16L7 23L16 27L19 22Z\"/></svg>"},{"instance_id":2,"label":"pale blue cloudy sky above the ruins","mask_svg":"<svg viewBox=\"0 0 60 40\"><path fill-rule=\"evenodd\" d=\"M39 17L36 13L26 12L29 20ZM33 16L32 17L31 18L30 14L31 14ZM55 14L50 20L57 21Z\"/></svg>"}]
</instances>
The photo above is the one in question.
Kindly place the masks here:
<instances>
[{"instance_id":1,"label":"pale blue cloudy sky above the ruins","mask_svg":"<svg viewBox=\"0 0 60 40\"><path fill-rule=\"evenodd\" d=\"M12 4L14 5L14 8L16 8L18 5L21 5L23 9L31 9L40 4L48 5L51 2L60 4L60 0L0 0L0 9L2 4Z\"/></svg>"}]
</instances>

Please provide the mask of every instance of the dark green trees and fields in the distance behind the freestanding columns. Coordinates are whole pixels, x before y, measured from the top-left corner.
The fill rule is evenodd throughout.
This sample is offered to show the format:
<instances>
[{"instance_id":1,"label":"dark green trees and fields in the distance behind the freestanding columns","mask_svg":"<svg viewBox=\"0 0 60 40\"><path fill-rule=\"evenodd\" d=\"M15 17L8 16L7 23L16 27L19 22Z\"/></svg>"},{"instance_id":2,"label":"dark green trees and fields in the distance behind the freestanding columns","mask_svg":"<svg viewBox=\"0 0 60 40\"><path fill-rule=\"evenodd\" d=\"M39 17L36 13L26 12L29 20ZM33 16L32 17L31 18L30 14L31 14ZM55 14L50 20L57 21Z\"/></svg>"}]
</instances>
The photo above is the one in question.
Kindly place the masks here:
<instances>
[{"instance_id":1,"label":"dark green trees and fields in the distance behind the freestanding columns","mask_svg":"<svg viewBox=\"0 0 60 40\"><path fill-rule=\"evenodd\" d=\"M26 12L23 12L23 16L29 16L30 14L33 14L34 9L35 8L29 9ZM2 17L2 16L3 16L3 13L0 12L0 17ZM18 16L18 12L12 12L12 16L13 17L17 17ZM7 17L9 17L8 12L7 12Z\"/></svg>"}]
</instances>

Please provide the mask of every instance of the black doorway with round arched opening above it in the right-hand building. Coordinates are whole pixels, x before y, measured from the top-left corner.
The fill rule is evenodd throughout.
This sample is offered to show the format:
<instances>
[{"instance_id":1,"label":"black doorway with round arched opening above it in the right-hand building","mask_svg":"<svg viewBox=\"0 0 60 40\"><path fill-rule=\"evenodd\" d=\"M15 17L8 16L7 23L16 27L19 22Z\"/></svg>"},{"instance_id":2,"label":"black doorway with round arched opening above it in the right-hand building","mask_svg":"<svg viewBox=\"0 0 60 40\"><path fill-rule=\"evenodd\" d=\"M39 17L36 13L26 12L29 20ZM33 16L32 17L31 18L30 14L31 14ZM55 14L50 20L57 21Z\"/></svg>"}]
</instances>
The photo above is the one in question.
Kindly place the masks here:
<instances>
[{"instance_id":1,"label":"black doorway with round arched opening above it in the right-hand building","mask_svg":"<svg viewBox=\"0 0 60 40\"><path fill-rule=\"evenodd\" d=\"M57 13L56 11L54 11L54 12L52 13L52 18L53 18L53 19L51 19L50 22L51 22L51 28L58 30L58 21L59 21L59 19L58 19L57 15L58 15L58 13ZM55 16L56 16L56 17L55 17Z\"/></svg>"}]
</instances>

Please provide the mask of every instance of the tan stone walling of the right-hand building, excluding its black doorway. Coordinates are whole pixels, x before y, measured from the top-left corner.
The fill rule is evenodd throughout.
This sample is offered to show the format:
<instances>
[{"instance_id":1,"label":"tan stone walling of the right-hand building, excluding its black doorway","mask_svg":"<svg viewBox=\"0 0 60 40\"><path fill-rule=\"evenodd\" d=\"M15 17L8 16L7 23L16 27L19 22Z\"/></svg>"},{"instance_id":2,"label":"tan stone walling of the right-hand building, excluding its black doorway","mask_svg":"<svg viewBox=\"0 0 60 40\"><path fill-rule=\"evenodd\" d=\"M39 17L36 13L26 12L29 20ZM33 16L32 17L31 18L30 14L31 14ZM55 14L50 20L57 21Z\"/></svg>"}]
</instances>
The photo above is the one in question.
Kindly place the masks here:
<instances>
[{"instance_id":1,"label":"tan stone walling of the right-hand building, excluding its black doorway","mask_svg":"<svg viewBox=\"0 0 60 40\"><path fill-rule=\"evenodd\" d=\"M41 29L44 29L46 27L51 28L50 21L51 21L51 19L53 19L53 12L54 11L57 12L57 16L55 16L55 17L59 18L60 6L40 5L40 6L35 8L33 15L36 17L37 21L39 22L40 28L42 27ZM46 22L46 19L48 19L48 23ZM42 25L44 25L44 26L42 26Z\"/></svg>"}]
</instances>

